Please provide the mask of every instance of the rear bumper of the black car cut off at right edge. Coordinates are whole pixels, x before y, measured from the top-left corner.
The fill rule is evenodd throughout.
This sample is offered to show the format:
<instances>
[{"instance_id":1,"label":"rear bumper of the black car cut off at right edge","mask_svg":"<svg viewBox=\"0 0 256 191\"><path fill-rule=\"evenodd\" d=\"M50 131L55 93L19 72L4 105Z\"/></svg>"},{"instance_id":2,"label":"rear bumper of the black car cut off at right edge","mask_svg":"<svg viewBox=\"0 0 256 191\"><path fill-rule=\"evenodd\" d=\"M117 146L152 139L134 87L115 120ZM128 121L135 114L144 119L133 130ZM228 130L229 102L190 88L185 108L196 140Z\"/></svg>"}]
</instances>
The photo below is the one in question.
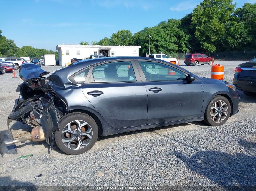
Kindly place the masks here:
<instances>
[{"instance_id":1,"label":"rear bumper of the black car cut off at right edge","mask_svg":"<svg viewBox=\"0 0 256 191\"><path fill-rule=\"evenodd\" d=\"M233 78L233 84L238 90L256 92L256 79L253 78L240 78L235 73Z\"/></svg>"}]
</instances>

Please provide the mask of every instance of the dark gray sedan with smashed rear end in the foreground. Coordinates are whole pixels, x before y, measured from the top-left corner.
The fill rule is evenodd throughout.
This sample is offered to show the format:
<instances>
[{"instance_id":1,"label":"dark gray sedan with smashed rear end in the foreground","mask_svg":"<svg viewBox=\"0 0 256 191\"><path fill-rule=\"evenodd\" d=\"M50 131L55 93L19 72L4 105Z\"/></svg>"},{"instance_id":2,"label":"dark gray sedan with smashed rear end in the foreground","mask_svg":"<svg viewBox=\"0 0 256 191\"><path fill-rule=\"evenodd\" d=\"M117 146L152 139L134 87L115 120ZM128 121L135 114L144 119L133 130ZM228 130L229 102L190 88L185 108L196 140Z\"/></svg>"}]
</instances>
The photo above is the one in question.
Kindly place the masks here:
<instances>
[{"instance_id":1,"label":"dark gray sedan with smashed rear end in the foreground","mask_svg":"<svg viewBox=\"0 0 256 191\"><path fill-rule=\"evenodd\" d=\"M238 112L234 85L154 58L88 59L54 72L25 63L19 75L20 95L0 133L2 156L25 140L81 154L98 136L200 120L218 126ZM30 125L31 134L13 139L12 120Z\"/></svg>"}]
</instances>

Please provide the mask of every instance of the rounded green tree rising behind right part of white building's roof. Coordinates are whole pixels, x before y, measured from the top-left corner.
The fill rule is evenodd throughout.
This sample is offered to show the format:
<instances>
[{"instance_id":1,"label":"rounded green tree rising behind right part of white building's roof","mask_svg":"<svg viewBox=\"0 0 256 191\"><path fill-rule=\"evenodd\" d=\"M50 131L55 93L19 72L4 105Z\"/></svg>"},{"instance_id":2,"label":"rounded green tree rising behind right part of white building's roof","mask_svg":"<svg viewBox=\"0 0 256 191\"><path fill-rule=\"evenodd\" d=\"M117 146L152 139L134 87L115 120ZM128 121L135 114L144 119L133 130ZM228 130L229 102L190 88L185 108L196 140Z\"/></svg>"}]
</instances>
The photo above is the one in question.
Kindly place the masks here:
<instances>
[{"instance_id":1,"label":"rounded green tree rising behind right part of white building's roof","mask_svg":"<svg viewBox=\"0 0 256 191\"><path fill-rule=\"evenodd\" d=\"M129 40L132 37L130 30L118 30L117 33L113 33L111 41L113 45L129 45Z\"/></svg>"}]
</instances>

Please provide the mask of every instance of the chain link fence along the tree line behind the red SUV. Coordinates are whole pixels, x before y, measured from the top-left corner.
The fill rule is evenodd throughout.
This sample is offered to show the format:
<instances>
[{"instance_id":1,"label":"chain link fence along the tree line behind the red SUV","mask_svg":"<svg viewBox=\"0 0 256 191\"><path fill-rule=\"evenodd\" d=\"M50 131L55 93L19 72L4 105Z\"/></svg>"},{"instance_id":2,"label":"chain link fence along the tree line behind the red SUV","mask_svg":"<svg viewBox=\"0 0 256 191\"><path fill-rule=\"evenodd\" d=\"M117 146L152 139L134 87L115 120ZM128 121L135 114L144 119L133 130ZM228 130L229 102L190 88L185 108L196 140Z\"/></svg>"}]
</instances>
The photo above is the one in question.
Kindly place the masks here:
<instances>
[{"instance_id":1,"label":"chain link fence along the tree line behind the red SUV","mask_svg":"<svg viewBox=\"0 0 256 191\"><path fill-rule=\"evenodd\" d=\"M251 60L256 57L256 50L242 50L242 51L224 51L224 52L214 52L214 53L205 53L204 51L194 51L190 53L162 53L166 54L171 58L179 58L184 60L186 54L206 54L209 57L214 57L214 59L219 60Z\"/></svg>"}]
</instances>

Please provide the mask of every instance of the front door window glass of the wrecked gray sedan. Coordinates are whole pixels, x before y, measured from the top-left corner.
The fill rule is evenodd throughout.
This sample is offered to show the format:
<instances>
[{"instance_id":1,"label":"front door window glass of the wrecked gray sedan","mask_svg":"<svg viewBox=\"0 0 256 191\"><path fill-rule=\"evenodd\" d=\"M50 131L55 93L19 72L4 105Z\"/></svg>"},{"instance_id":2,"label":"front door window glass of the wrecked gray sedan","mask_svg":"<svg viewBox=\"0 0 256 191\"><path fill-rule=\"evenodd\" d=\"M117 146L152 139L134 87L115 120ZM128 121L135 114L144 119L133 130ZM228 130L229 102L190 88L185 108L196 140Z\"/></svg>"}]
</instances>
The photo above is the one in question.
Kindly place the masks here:
<instances>
[{"instance_id":1,"label":"front door window glass of the wrecked gray sedan","mask_svg":"<svg viewBox=\"0 0 256 191\"><path fill-rule=\"evenodd\" d=\"M159 62L139 61L147 81L186 80L184 72Z\"/></svg>"}]
</instances>

